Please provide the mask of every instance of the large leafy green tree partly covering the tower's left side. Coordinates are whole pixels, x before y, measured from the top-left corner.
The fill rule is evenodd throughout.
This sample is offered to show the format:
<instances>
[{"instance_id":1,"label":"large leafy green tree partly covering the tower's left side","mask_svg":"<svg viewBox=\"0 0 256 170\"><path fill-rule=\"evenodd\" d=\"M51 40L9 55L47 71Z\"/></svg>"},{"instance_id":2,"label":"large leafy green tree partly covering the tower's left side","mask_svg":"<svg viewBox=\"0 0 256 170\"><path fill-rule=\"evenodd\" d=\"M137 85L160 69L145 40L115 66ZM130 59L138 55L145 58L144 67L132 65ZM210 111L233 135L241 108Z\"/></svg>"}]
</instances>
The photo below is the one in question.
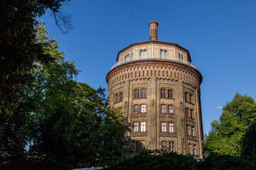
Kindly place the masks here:
<instances>
[{"instance_id":1,"label":"large leafy green tree partly covering the tower's left side","mask_svg":"<svg viewBox=\"0 0 256 170\"><path fill-rule=\"evenodd\" d=\"M71 169L100 166L122 158L124 119L108 108L102 89L73 79L78 69L64 60L57 41L36 26L36 43L54 60L33 62L31 80L1 141L4 169Z\"/></svg>"}]
</instances>

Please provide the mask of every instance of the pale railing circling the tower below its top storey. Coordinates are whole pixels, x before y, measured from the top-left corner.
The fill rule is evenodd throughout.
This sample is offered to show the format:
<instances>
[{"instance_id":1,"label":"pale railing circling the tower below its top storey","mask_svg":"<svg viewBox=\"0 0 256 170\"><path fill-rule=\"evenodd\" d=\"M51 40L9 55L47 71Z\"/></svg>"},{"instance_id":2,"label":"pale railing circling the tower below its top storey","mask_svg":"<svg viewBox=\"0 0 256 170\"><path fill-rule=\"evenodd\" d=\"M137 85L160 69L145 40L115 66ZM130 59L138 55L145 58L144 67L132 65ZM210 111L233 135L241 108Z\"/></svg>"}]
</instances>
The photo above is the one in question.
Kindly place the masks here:
<instances>
[{"instance_id":1,"label":"pale railing circling the tower below its top storey","mask_svg":"<svg viewBox=\"0 0 256 170\"><path fill-rule=\"evenodd\" d=\"M117 62L116 64L114 64L111 69L113 69L114 67L117 67L121 64L124 63L129 63L129 62L134 62L134 61L142 61L142 60L167 60L167 61L175 61L175 62L181 62L183 64L188 64L191 67L194 67L195 69L196 66L193 65L191 62L188 62L186 60L183 60L179 57L174 57L174 56L167 56L167 55L144 55L144 56L134 56L134 57L129 57L129 58L125 58L124 60L121 60L119 62ZM110 69L110 70L111 70Z\"/></svg>"}]
</instances>

